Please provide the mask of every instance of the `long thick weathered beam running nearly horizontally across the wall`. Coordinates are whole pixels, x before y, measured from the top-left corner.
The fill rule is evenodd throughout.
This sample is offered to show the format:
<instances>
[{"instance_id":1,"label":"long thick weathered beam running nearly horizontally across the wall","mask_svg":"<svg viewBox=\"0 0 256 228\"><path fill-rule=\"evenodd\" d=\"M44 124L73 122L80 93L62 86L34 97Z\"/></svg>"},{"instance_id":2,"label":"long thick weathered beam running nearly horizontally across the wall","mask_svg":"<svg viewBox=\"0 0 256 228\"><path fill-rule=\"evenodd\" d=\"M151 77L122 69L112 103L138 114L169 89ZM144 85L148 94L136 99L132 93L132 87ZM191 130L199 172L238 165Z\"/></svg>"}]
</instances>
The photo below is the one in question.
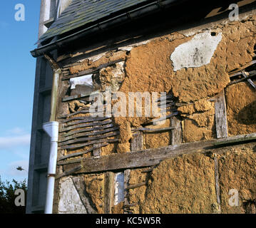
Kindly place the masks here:
<instances>
[{"instance_id":1,"label":"long thick weathered beam running nearly horizontally across the wall","mask_svg":"<svg viewBox=\"0 0 256 228\"><path fill-rule=\"evenodd\" d=\"M207 152L214 148L225 147L233 143L246 143L256 141L256 133L220 138L217 140L188 142L180 145L113 154L98 158L88 157L81 162L83 168L78 173L106 172L108 170L126 170L136 167L158 165L160 161L178 155Z\"/></svg>"}]
</instances>

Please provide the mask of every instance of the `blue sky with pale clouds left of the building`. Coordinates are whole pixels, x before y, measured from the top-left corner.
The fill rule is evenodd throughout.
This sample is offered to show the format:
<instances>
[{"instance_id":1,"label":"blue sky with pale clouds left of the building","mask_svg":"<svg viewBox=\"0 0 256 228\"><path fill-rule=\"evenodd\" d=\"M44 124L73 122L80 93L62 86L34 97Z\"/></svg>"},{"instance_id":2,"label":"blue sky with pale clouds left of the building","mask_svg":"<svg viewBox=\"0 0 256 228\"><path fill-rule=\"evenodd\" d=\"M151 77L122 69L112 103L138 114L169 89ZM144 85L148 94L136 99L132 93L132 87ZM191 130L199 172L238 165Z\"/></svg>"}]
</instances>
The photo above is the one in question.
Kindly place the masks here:
<instances>
[{"instance_id":1,"label":"blue sky with pale clouds left of the building","mask_svg":"<svg viewBox=\"0 0 256 228\"><path fill-rule=\"evenodd\" d=\"M36 59L30 54L39 27L40 0L0 3L0 175L1 180L27 179ZM25 21L16 21L16 4L24 4Z\"/></svg>"}]
</instances>

